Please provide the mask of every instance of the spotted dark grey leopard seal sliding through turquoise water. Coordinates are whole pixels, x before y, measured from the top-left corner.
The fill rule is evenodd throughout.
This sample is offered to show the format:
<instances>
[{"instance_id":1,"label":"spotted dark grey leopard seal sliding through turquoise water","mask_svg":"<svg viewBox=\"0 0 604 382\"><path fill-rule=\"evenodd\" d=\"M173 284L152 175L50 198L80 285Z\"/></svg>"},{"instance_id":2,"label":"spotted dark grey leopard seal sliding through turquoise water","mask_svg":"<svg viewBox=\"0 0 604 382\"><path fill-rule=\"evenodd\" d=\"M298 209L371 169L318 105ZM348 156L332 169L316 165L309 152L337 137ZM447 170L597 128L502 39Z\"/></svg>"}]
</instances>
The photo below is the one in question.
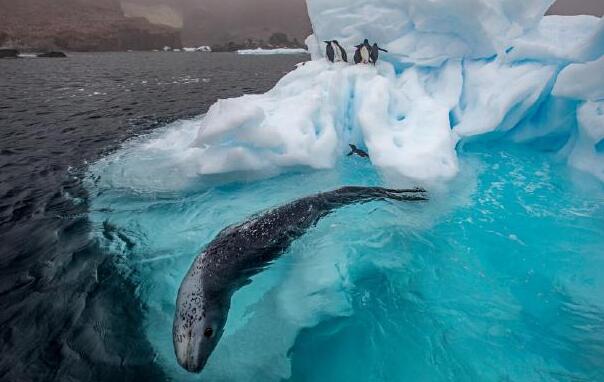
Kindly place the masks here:
<instances>
[{"instance_id":1,"label":"spotted dark grey leopard seal sliding through turquoise water","mask_svg":"<svg viewBox=\"0 0 604 382\"><path fill-rule=\"evenodd\" d=\"M253 216L224 229L195 259L176 301L173 342L182 367L200 372L222 336L233 293L322 217L353 203L426 200L424 190L344 187Z\"/></svg>"}]
</instances>

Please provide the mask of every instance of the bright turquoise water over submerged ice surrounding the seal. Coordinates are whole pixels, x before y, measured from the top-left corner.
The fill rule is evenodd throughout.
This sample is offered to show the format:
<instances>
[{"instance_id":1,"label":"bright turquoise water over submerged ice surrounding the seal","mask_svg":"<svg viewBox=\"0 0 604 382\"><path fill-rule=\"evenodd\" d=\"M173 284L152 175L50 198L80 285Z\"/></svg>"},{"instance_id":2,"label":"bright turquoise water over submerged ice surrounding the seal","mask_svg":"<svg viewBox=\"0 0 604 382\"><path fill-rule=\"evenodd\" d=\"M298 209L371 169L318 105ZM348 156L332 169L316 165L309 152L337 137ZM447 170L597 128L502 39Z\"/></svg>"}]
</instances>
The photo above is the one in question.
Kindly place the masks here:
<instances>
[{"instance_id":1,"label":"bright turquoise water over submerged ice surrounding the seal","mask_svg":"<svg viewBox=\"0 0 604 382\"><path fill-rule=\"evenodd\" d=\"M323 219L235 295L206 370L187 374L172 349L176 293L221 229L311 193L391 185L349 158L194 179L179 146L194 124L130 143L92 166L89 184L93 234L138 285L171 379L604 380L604 187L502 143L465 146L460 175L426 185L427 203Z\"/></svg>"}]
</instances>

